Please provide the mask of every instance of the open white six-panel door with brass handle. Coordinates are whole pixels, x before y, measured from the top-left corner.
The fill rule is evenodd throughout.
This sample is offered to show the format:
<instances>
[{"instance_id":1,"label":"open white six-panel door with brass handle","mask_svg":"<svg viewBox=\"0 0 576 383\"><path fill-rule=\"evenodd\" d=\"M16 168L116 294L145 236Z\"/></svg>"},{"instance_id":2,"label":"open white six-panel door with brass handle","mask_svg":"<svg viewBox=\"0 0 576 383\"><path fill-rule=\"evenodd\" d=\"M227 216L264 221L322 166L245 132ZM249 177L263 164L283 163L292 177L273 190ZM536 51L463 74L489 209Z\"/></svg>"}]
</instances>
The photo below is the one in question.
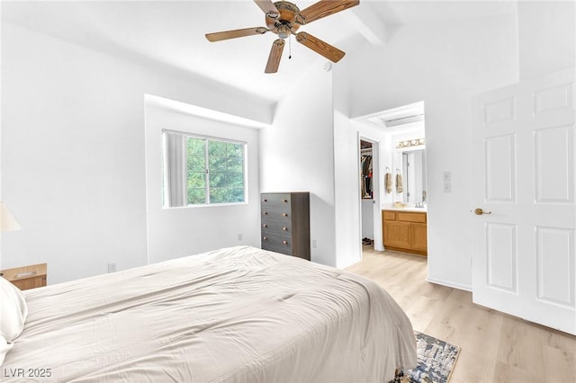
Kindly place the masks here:
<instances>
[{"instance_id":1,"label":"open white six-panel door with brass handle","mask_svg":"<svg viewBox=\"0 0 576 383\"><path fill-rule=\"evenodd\" d=\"M570 334L576 334L574 72L474 97L472 134L473 301Z\"/></svg>"}]
</instances>

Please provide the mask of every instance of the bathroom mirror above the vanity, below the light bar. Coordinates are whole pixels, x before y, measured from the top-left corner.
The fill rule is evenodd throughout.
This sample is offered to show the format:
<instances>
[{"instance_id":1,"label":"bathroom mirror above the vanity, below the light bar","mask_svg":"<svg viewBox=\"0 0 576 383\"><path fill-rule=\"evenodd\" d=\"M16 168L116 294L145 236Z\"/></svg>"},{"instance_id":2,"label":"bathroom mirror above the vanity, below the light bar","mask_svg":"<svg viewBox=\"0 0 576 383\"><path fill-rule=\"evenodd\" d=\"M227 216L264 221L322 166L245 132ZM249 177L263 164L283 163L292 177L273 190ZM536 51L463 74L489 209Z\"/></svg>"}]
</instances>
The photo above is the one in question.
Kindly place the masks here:
<instances>
[{"instance_id":1,"label":"bathroom mirror above the vanity, below the light bar","mask_svg":"<svg viewBox=\"0 0 576 383\"><path fill-rule=\"evenodd\" d=\"M402 181L404 202L417 203L427 201L426 150L402 152Z\"/></svg>"}]
</instances>

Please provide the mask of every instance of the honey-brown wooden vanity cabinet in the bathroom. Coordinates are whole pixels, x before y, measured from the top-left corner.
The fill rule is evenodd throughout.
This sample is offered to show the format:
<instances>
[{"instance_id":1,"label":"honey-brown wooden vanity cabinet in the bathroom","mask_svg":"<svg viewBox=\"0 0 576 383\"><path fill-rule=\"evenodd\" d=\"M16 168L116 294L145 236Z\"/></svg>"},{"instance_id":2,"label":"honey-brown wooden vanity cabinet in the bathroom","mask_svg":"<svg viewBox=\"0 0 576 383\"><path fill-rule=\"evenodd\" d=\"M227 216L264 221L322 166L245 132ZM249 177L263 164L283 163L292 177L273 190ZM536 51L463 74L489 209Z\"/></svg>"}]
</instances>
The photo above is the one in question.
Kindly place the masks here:
<instances>
[{"instance_id":1,"label":"honey-brown wooden vanity cabinet in the bathroom","mask_svg":"<svg viewBox=\"0 0 576 383\"><path fill-rule=\"evenodd\" d=\"M427 255L428 229L425 212L383 210L383 243L386 250Z\"/></svg>"}]
</instances>

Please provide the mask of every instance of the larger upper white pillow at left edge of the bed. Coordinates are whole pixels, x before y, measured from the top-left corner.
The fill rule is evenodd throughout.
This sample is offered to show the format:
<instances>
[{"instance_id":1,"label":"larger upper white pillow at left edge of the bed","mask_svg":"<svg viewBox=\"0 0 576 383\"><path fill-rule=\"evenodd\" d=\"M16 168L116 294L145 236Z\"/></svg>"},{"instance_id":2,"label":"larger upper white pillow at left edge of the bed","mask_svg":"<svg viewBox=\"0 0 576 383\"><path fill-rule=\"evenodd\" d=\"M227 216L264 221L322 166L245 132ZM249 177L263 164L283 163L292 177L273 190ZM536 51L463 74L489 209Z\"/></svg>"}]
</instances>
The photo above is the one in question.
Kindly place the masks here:
<instances>
[{"instance_id":1,"label":"larger upper white pillow at left edge of the bed","mask_svg":"<svg viewBox=\"0 0 576 383\"><path fill-rule=\"evenodd\" d=\"M28 316L26 300L20 289L0 277L0 337L11 343L24 328ZM1 343L0 343L1 346Z\"/></svg>"}]
</instances>

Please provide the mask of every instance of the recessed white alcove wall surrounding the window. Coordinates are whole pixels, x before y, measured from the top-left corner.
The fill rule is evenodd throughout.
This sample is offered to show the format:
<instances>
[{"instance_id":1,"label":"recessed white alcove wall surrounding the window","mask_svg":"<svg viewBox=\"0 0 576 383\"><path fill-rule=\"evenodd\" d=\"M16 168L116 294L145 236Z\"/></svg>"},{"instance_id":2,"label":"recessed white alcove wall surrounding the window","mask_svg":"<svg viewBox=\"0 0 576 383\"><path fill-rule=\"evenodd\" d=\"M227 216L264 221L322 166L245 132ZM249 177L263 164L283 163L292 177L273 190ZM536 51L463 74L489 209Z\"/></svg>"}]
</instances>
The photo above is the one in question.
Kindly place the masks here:
<instances>
[{"instance_id":1,"label":"recessed white alcove wall surrounding the window","mask_svg":"<svg viewBox=\"0 0 576 383\"><path fill-rule=\"evenodd\" d=\"M170 129L247 143L247 203L162 208L161 132ZM146 105L146 191L148 262L232 245L260 246L258 131ZM242 240L238 239L242 236Z\"/></svg>"}]
</instances>

